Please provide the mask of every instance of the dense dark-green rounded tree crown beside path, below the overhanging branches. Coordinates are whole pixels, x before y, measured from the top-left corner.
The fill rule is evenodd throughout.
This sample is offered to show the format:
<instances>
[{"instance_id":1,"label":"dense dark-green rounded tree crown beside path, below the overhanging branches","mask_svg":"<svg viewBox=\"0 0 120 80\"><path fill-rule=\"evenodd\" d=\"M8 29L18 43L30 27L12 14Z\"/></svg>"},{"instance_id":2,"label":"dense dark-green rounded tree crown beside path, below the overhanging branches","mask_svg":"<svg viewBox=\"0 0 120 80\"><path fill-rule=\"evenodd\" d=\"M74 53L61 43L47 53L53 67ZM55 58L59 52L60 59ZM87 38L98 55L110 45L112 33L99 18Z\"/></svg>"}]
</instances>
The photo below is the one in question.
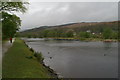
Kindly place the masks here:
<instances>
[{"instance_id":1,"label":"dense dark-green rounded tree crown beside path, below the overhanging branches","mask_svg":"<svg viewBox=\"0 0 120 80\"><path fill-rule=\"evenodd\" d=\"M14 37L15 33L19 30L20 25L21 20L19 17L2 12L3 39L7 37Z\"/></svg>"}]
</instances>

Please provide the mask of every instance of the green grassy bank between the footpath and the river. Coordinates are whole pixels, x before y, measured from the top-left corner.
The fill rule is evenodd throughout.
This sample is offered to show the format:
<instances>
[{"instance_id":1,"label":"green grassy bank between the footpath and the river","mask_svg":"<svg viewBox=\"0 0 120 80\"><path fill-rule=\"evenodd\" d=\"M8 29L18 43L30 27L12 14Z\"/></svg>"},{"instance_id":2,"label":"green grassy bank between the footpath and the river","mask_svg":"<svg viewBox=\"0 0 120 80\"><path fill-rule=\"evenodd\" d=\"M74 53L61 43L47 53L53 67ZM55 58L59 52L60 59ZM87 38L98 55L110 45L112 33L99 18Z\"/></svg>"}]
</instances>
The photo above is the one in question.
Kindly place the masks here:
<instances>
[{"instance_id":1,"label":"green grassy bank between the footpath and the river","mask_svg":"<svg viewBox=\"0 0 120 80\"><path fill-rule=\"evenodd\" d=\"M27 58L32 56L32 58ZM5 53L3 78L51 78L50 72L34 57L33 52L20 39Z\"/></svg>"}]
</instances>

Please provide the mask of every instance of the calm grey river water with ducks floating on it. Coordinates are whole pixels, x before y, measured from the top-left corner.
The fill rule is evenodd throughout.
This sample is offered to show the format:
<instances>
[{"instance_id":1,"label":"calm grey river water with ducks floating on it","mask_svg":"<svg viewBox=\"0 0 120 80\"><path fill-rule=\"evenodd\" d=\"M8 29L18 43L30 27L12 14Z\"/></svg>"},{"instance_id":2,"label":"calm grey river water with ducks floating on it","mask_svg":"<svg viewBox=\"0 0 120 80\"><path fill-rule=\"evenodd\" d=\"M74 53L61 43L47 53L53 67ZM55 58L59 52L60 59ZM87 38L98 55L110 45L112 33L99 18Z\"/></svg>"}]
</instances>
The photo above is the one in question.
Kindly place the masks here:
<instances>
[{"instance_id":1,"label":"calm grey river water with ducks floating on it","mask_svg":"<svg viewBox=\"0 0 120 80\"><path fill-rule=\"evenodd\" d=\"M117 43L27 40L30 47L42 52L45 64L64 78L118 77Z\"/></svg>"}]
</instances>

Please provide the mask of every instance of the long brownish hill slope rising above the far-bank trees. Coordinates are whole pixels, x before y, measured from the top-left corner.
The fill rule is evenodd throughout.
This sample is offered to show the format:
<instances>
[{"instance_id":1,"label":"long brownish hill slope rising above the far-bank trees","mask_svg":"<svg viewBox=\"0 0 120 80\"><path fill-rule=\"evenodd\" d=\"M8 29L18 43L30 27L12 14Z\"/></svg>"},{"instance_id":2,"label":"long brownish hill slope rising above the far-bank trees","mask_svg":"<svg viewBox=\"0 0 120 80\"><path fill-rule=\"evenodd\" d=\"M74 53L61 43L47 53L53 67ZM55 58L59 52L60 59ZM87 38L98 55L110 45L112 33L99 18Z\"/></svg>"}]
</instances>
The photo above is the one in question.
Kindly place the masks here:
<instances>
[{"instance_id":1,"label":"long brownish hill slope rising above the far-bank trees","mask_svg":"<svg viewBox=\"0 0 120 80\"><path fill-rule=\"evenodd\" d=\"M41 31L44 30L61 30L61 31L68 31L73 30L74 32L78 33L80 31L87 31L90 30L94 33L103 32L104 28L111 28L113 31L118 31L118 21L112 22L80 22L80 23L70 23L70 24L63 24L63 25L56 25L56 26L41 26L38 28L33 28L29 30L25 30L20 32L21 36L24 35L39 35Z\"/></svg>"}]
</instances>

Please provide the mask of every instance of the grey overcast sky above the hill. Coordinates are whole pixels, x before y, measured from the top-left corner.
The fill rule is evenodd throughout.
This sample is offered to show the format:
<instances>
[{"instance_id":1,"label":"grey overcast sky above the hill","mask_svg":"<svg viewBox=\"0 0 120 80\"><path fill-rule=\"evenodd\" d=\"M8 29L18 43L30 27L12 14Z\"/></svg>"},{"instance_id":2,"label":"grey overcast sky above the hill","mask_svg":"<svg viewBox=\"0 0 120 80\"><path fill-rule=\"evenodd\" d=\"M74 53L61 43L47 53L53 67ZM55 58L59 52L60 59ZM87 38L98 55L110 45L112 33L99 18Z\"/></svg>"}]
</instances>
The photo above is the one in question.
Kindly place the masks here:
<instances>
[{"instance_id":1,"label":"grey overcast sky above the hill","mask_svg":"<svg viewBox=\"0 0 120 80\"><path fill-rule=\"evenodd\" d=\"M118 20L117 2L30 2L21 30L44 25Z\"/></svg>"}]
</instances>

